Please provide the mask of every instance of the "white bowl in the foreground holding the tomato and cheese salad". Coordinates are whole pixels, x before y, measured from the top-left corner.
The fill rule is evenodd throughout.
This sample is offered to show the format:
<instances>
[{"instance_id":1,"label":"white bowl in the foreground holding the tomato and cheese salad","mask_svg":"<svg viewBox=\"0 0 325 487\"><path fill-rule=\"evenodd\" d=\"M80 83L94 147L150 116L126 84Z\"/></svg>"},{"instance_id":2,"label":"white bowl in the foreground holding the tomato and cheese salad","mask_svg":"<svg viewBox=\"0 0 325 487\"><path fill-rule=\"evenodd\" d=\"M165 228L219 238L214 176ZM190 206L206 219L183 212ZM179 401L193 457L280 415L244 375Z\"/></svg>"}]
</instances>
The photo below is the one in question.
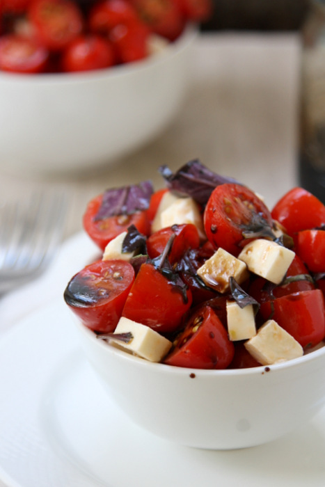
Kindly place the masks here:
<instances>
[{"instance_id":1,"label":"white bowl in the foreground holding the tomato and cheese salad","mask_svg":"<svg viewBox=\"0 0 325 487\"><path fill-rule=\"evenodd\" d=\"M270 367L183 369L120 351L77 323L109 396L136 424L181 445L237 449L276 440L325 403L325 347Z\"/></svg>"}]
</instances>

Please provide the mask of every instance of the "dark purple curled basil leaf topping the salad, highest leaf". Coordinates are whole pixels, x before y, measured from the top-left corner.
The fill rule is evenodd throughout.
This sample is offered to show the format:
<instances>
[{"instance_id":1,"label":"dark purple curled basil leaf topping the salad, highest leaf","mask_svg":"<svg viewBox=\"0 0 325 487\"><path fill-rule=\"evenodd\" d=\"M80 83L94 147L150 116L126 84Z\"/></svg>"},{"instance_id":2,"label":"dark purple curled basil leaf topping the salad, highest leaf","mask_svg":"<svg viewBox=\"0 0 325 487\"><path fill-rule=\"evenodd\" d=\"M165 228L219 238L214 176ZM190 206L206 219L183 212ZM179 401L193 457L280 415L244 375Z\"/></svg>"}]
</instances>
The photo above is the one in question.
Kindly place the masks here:
<instances>
[{"instance_id":1,"label":"dark purple curled basil leaf topping the salad, highest leaf","mask_svg":"<svg viewBox=\"0 0 325 487\"><path fill-rule=\"evenodd\" d=\"M219 184L239 184L232 177L223 177L213 173L198 159L189 161L176 173L172 173L167 166L161 166L159 173L164 177L168 189L183 196L190 196L203 206L207 204L212 191Z\"/></svg>"}]
</instances>

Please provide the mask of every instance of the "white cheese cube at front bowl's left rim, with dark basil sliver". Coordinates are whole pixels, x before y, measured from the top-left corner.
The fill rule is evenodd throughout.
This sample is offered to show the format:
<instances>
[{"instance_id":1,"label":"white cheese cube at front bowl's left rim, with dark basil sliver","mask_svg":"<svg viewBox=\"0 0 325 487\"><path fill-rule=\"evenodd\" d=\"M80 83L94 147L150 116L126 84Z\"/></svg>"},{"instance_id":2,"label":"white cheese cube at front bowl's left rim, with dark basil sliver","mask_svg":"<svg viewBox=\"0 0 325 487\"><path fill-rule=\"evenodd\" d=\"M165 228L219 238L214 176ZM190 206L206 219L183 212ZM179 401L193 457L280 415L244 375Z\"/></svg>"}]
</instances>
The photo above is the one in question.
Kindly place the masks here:
<instances>
[{"instance_id":1,"label":"white cheese cube at front bowl's left rim, with dark basil sliver","mask_svg":"<svg viewBox=\"0 0 325 487\"><path fill-rule=\"evenodd\" d=\"M171 349L172 342L159 335L157 331L149 326L136 323L132 319L120 318L118 325L113 333L131 333L132 339L129 343L111 338L111 342L116 342L118 348L125 349L135 355L150 360L150 362L160 362Z\"/></svg>"}]
</instances>

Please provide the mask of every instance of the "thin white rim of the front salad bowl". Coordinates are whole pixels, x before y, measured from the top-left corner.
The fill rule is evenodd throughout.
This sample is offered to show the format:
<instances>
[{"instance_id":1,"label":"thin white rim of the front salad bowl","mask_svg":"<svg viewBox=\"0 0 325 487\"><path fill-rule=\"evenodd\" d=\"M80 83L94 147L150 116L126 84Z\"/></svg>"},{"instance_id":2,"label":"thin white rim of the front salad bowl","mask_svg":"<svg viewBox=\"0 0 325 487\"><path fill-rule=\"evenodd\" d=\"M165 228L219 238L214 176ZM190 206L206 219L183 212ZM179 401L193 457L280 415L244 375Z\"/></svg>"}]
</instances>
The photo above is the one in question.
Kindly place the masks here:
<instances>
[{"instance_id":1,"label":"thin white rim of the front salad bowl","mask_svg":"<svg viewBox=\"0 0 325 487\"><path fill-rule=\"evenodd\" d=\"M144 358L132 355L132 353L128 353L127 351L123 351L122 349L118 349L117 347L110 345L106 340L97 338L96 333L81 323L79 319L75 319L74 323L81 333L88 337L88 339L90 339L92 342L96 343L96 346L108 351L108 353L118 356L122 360L136 362L139 367L145 367L146 369L150 367L150 369L156 370L157 372L166 371L167 373L184 376L195 374L195 376L200 375L200 377L216 376L221 378L230 376L235 378L237 376L260 376L261 374L269 375L269 372L281 371L283 369L294 369L301 367L308 362L314 362L317 360L317 358L319 358L319 356L325 356L325 340L323 340L324 346L320 346L318 349L310 351L299 358L293 358L292 360L278 362L271 365L260 365L259 367L248 367L246 369L196 369L194 367L177 367L175 365L168 365L161 362L150 362Z\"/></svg>"}]
</instances>

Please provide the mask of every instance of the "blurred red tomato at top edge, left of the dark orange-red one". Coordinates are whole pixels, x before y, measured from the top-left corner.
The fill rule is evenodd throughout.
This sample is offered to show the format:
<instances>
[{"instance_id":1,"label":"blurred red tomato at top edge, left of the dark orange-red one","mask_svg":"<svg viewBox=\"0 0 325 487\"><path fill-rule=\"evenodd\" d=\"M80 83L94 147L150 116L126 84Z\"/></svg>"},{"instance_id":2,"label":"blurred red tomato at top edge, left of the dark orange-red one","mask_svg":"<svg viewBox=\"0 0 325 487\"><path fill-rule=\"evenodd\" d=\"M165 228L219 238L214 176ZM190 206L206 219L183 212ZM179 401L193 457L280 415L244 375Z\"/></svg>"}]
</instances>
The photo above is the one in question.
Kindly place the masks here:
<instances>
[{"instance_id":1,"label":"blurred red tomato at top edge, left of the dark orange-red one","mask_svg":"<svg viewBox=\"0 0 325 487\"><path fill-rule=\"evenodd\" d=\"M90 30L109 35L118 24L138 22L136 10L127 0L104 0L95 3L90 9L88 23Z\"/></svg>"}]
</instances>

